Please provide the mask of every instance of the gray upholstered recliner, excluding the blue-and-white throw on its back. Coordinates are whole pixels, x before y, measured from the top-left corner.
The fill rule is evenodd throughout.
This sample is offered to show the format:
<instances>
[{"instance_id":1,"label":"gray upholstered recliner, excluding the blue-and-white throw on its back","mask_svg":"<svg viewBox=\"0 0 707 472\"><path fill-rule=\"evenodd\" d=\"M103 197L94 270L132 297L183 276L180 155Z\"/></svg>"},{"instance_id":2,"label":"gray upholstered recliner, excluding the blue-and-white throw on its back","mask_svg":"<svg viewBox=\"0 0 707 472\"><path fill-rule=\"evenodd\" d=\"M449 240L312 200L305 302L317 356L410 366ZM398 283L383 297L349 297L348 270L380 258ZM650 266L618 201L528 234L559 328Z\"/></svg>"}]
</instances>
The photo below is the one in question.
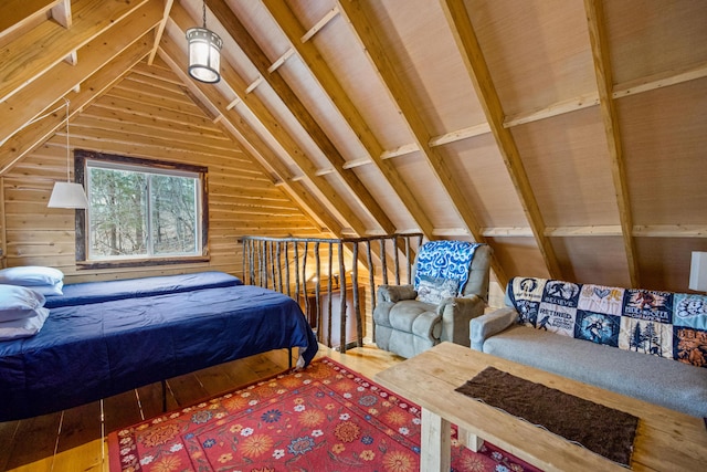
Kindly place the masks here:
<instances>
[{"instance_id":1,"label":"gray upholstered recliner, excluding the blue-and-white throw on its back","mask_svg":"<svg viewBox=\"0 0 707 472\"><path fill-rule=\"evenodd\" d=\"M490 258L490 247L478 245L462 296L445 297L439 304L416 300L413 285L380 285L373 311L378 347L412 357L443 340L469 346L469 322L484 314L488 302Z\"/></svg>"}]
</instances>

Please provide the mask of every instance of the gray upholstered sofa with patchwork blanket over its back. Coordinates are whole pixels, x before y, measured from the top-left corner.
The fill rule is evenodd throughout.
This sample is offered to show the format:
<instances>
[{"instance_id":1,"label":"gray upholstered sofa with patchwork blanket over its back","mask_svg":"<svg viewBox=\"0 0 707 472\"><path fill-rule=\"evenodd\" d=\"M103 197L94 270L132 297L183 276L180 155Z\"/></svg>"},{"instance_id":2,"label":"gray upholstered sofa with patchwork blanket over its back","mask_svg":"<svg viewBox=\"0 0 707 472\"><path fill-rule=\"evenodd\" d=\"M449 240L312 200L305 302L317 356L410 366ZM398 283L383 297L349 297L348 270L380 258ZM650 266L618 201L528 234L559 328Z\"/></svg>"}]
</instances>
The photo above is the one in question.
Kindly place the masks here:
<instances>
[{"instance_id":1,"label":"gray upholstered sofa with patchwork blanket over its back","mask_svg":"<svg viewBox=\"0 0 707 472\"><path fill-rule=\"evenodd\" d=\"M707 418L707 297L513 279L473 349Z\"/></svg>"}]
</instances>

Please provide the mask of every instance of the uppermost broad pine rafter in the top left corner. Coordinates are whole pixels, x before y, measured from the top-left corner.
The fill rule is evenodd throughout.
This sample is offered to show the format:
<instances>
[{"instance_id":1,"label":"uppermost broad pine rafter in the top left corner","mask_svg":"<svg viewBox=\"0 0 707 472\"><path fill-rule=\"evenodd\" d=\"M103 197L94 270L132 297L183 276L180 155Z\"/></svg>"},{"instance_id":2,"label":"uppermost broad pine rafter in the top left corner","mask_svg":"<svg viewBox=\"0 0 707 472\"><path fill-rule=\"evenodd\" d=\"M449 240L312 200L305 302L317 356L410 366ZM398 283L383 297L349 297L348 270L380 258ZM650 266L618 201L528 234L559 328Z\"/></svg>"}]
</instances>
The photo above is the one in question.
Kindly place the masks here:
<instances>
[{"instance_id":1,"label":"uppermost broad pine rafter in the top left corner","mask_svg":"<svg viewBox=\"0 0 707 472\"><path fill-rule=\"evenodd\" d=\"M75 0L70 30L45 21L0 49L0 101L7 99L146 1ZM119 34L119 33L118 33ZM33 54L28 54L32 51Z\"/></svg>"}]
</instances>

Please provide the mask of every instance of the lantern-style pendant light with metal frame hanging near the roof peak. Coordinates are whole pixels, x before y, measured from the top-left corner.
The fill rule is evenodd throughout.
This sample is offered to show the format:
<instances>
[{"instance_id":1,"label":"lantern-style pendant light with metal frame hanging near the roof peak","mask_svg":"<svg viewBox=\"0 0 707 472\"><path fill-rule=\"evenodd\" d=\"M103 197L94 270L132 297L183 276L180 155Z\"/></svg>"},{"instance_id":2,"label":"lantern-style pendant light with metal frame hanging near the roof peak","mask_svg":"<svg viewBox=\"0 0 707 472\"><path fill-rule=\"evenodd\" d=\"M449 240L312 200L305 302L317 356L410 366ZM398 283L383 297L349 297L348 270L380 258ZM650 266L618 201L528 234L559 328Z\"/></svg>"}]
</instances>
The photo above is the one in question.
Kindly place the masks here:
<instances>
[{"instance_id":1,"label":"lantern-style pendant light with metal frame hanging near the roof peak","mask_svg":"<svg viewBox=\"0 0 707 472\"><path fill-rule=\"evenodd\" d=\"M215 84L221 80L221 46L223 41L213 31L207 30L207 2L202 3L203 28L187 30L189 43L189 75L193 78Z\"/></svg>"}]
</instances>

